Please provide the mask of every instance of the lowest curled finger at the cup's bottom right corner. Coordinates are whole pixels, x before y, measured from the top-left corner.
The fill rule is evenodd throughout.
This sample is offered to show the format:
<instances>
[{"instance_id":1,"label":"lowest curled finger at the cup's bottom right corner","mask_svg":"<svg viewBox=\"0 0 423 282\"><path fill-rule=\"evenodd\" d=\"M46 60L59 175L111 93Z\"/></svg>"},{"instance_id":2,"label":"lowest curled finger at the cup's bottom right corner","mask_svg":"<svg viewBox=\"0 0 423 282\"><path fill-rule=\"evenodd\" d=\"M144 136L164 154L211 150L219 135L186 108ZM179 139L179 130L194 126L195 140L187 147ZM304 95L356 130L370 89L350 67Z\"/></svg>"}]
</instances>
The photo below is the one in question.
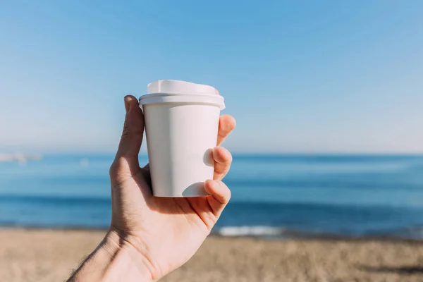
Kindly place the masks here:
<instances>
[{"instance_id":1,"label":"lowest curled finger at the cup's bottom right corner","mask_svg":"<svg viewBox=\"0 0 423 282\"><path fill-rule=\"evenodd\" d=\"M219 217L231 200L231 190L219 180L207 180L204 183L204 190L210 194L207 196L207 201L212 207L213 214Z\"/></svg>"}]
</instances>

